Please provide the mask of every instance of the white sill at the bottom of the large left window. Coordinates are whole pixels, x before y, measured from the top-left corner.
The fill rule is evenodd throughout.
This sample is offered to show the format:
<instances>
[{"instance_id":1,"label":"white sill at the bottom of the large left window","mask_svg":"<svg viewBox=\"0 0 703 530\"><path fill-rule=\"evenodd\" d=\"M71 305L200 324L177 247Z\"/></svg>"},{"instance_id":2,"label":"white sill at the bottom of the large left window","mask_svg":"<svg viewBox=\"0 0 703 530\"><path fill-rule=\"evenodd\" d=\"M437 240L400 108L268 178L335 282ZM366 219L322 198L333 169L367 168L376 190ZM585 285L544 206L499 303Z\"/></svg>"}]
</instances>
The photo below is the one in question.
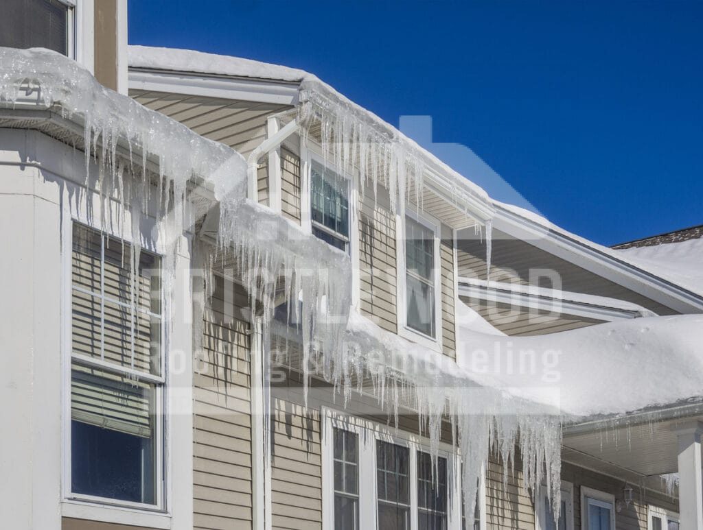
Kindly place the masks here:
<instances>
[{"instance_id":1,"label":"white sill at the bottom of the large left window","mask_svg":"<svg viewBox=\"0 0 703 530\"><path fill-rule=\"evenodd\" d=\"M171 528L171 516L166 513L122 508L121 506L107 504L85 503L71 499L61 503L61 515L73 519L89 519L91 521L131 526L148 526L149 528L163 530Z\"/></svg>"}]
</instances>

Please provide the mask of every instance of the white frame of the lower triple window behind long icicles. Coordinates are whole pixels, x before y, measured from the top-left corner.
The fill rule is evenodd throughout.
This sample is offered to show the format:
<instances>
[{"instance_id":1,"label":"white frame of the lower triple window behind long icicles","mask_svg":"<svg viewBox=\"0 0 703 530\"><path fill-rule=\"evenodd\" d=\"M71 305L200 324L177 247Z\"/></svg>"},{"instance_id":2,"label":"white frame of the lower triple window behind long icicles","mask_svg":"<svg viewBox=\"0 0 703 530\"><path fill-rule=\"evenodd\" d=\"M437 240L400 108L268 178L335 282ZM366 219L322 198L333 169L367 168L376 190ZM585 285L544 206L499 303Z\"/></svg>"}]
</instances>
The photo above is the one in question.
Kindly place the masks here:
<instances>
[{"instance_id":1,"label":"white frame of the lower triple window behind long icicles","mask_svg":"<svg viewBox=\"0 0 703 530\"><path fill-rule=\"evenodd\" d=\"M394 430L370 420L350 416L333 409L323 407L322 425L322 528L334 529L335 514L335 477L334 477L334 439L333 430L340 428L357 435L359 451L359 529L373 530L378 525L378 494L376 491L376 441L389 442L410 450L410 522L411 530L418 529L418 451L430 453L430 441L402 430ZM461 530L462 496L460 479L460 456L450 444L439 444L439 456L446 458L447 465L447 529ZM484 477L482 476L482 481ZM479 514L482 530L485 530L486 490L479 488ZM468 520L468 517L467 517ZM471 527L473 517L471 517Z\"/></svg>"}]
</instances>

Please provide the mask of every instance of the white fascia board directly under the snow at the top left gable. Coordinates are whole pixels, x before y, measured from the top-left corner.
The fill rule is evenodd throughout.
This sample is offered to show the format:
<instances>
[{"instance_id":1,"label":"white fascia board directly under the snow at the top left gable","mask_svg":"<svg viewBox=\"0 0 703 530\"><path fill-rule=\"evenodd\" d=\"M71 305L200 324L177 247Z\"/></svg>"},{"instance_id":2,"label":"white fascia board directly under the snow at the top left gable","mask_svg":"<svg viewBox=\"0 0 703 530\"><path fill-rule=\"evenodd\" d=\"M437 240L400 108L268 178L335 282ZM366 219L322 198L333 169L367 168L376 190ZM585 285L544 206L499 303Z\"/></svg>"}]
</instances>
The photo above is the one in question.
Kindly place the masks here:
<instances>
[{"instance_id":1,"label":"white fascia board directly under the snow at the top left gable","mask_svg":"<svg viewBox=\"0 0 703 530\"><path fill-rule=\"evenodd\" d=\"M129 88L153 92L202 95L210 98L295 105L298 83L233 77L212 77L186 72L129 69Z\"/></svg>"}]
</instances>

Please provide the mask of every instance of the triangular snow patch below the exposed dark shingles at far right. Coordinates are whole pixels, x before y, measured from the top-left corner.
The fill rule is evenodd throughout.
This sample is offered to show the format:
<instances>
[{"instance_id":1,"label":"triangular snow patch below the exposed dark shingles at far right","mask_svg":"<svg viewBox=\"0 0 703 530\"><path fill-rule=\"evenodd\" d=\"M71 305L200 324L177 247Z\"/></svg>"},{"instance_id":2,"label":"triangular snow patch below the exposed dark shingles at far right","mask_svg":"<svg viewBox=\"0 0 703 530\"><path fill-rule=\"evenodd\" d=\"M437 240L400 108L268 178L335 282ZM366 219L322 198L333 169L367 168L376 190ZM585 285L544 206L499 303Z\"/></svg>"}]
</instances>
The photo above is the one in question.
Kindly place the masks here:
<instances>
[{"instance_id":1,"label":"triangular snow patch below the exposed dark shingles at far right","mask_svg":"<svg viewBox=\"0 0 703 530\"><path fill-rule=\"evenodd\" d=\"M703 239L614 251L638 267L703 296Z\"/></svg>"}]
</instances>

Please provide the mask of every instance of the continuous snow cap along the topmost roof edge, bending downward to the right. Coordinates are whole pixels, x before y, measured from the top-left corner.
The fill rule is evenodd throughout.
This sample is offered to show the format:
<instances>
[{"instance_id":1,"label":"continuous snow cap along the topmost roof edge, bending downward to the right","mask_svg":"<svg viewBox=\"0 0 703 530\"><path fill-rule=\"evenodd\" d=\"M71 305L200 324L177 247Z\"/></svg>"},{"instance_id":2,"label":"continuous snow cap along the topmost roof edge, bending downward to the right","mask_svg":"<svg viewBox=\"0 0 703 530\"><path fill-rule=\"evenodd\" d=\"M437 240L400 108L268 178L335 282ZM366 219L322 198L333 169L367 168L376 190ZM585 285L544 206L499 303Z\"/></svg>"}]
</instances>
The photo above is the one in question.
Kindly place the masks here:
<instances>
[{"instance_id":1,"label":"continuous snow cap along the topmost roof edge, bending downward to the right","mask_svg":"<svg viewBox=\"0 0 703 530\"><path fill-rule=\"evenodd\" d=\"M251 77L254 79L271 79L280 81L299 81L301 88L329 98L337 105L344 107L350 116L371 124L390 141L403 145L407 150L414 152L418 157L449 178L453 185L457 185L473 194L482 201L489 202L489 196L470 180L471 175L461 175L454 171L443 161L420 147L415 140L408 138L397 128L388 124L373 112L366 110L361 105L349 100L335 88L321 81L314 74L301 69L280 65L272 65L250 59L203 53L193 50L177 48L154 48L151 46L129 46L129 66L133 68L162 69L174 72L198 72L202 74L226 75L232 77Z\"/></svg>"}]
</instances>

